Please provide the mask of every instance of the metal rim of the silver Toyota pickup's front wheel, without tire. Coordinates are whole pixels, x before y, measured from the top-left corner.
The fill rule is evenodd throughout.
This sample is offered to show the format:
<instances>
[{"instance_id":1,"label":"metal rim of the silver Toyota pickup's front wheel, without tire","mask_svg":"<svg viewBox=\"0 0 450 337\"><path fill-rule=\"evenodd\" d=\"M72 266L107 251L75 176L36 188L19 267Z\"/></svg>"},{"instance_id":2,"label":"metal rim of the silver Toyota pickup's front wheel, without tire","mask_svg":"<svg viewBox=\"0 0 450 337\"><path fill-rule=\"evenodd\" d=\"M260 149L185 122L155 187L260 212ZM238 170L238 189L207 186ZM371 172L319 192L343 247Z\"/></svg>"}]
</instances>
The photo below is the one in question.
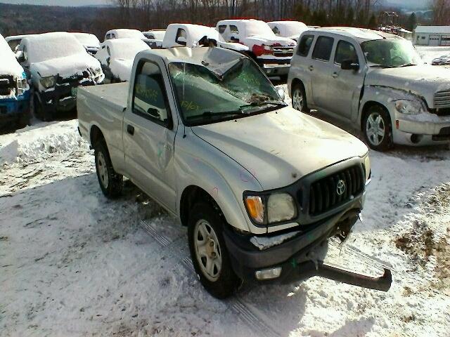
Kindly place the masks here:
<instances>
[{"instance_id":1,"label":"metal rim of the silver Toyota pickup's front wheel, without tire","mask_svg":"<svg viewBox=\"0 0 450 337\"><path fill-rule=\"evenodd\" d=\"M195 223L194 248L203 275L211 282L217 281L222 267L221 249L217 234L207 220Z\"/></svg>"}]
</instances>

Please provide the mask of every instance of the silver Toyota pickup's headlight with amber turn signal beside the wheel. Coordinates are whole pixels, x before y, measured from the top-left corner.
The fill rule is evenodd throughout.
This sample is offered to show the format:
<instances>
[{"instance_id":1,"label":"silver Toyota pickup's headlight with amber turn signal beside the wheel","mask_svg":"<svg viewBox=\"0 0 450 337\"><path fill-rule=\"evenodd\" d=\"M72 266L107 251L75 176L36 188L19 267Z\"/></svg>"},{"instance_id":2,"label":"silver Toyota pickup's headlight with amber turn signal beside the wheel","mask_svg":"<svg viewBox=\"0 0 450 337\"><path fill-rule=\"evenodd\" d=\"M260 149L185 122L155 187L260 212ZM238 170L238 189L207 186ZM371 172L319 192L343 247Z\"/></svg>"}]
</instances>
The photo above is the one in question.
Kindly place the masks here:
<instances>
[{"instance_id":1,"label":"silver Toyota pickup's headlight with amber turn signal beside the wheel","mask_svg":"<svg viewBox=\"0 0 450 337\"><path fill-rule=\"evenodd\" d=\"M248 216L259 225L280 223L297 216L297 206L288 193L248 194L244 197L244 204Z\"/></svg>"}]
</instances>

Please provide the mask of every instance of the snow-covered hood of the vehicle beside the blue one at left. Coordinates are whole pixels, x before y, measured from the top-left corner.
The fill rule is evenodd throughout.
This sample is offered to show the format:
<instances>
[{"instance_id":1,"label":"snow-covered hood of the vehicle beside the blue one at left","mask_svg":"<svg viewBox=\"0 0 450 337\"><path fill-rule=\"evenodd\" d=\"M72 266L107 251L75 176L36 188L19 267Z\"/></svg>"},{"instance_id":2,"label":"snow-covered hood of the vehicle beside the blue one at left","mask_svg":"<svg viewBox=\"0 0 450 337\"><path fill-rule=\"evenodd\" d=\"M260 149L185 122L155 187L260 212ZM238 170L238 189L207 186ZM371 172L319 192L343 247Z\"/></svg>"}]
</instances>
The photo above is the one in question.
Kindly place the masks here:
<instances>
[{"instance_id":1,"label":"snow-covered hood of the vehicle beside the blue one at left","mask_svg":"<svg viewBox=\"0 0 450 337\"><path fill-rule=\"evenodd\" d=\"M41 77L49 77L57 74L60 77L71 77L75 74L82 74L86 70L101 69L100 62L88 53L32 63L31 67L34 67Z\"/></svg>"}]
</instances>

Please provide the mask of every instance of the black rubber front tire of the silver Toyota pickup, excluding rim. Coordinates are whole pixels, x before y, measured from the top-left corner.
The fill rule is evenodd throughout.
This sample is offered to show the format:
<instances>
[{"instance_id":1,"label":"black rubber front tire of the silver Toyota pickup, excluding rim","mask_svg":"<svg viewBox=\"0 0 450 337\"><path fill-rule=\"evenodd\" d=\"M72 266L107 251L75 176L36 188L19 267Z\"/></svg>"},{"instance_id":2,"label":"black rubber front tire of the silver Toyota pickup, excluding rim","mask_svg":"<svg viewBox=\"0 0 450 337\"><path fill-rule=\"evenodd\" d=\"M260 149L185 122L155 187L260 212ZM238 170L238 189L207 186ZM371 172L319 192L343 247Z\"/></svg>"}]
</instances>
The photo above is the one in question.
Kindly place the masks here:
<instances>
[{"instance_id":1,"label":"black rubber front tire of the silver Toyota pickup, excluding rim","mask_svg":"<svg viewBox=\"0 0 450 337\"><path fill-rule=\"evenodd\" d=\"M203 263L203 259L198 257L198 253L196 251L195 240L199 238L195 237L195 234L199 234L196 229L196 225L199 223L203 223L206 221L210 228L214 231L215 239L218 242L218 252L217 255L221 258L221 269L217 273L217 279L210 279L205 269L205 264L203 267L200 267L200 263ZM200 283L205 287L205 289L215 298L227 298L233 293L236 293L242 281L233 271L233 267L231 266L231 260L229 258L228 250L226 249L226 244L224 241L224 236L222 234L222 230L224 228L224 221L219 216L219 212L215 210L210 204L205 201L200 201L193 206L193 209L189 213L188 220L188 242L189 249L191 251L191 259L193 265L195 267L195 272L197 273ZM209 232L209 234L212 234ZM208 242L205 237L205 243ZM217 249L217 247L214 247ZM200 253L199 253L200 254ZM205 257L206 258L206 257ZM200 261L202 262L199 262Z\"/></svg>"}]
</instances>

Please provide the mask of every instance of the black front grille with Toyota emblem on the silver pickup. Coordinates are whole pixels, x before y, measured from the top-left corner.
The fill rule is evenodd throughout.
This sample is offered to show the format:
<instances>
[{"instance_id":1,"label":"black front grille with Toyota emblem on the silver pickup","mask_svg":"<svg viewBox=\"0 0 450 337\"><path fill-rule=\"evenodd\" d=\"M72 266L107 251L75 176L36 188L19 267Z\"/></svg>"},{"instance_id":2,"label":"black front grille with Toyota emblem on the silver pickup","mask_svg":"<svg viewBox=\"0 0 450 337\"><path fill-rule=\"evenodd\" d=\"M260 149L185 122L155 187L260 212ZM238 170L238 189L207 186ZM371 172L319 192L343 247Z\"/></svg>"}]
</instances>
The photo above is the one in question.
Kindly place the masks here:
<instances>
[{"instance_id":1,"label":"black front grille with Toyota emblem on the silver pickup","mask_svg":"<svg viewBox=\"0 0 450 337\"><path fill-rule=\"evenodd\" d=\"M364 180L362 167L355 165L311 183L309 215L319 216L353 199L364 191ZM345 188L338 193L338 184L341 192L342 183Z\"/></svg>"}]
</instances>

